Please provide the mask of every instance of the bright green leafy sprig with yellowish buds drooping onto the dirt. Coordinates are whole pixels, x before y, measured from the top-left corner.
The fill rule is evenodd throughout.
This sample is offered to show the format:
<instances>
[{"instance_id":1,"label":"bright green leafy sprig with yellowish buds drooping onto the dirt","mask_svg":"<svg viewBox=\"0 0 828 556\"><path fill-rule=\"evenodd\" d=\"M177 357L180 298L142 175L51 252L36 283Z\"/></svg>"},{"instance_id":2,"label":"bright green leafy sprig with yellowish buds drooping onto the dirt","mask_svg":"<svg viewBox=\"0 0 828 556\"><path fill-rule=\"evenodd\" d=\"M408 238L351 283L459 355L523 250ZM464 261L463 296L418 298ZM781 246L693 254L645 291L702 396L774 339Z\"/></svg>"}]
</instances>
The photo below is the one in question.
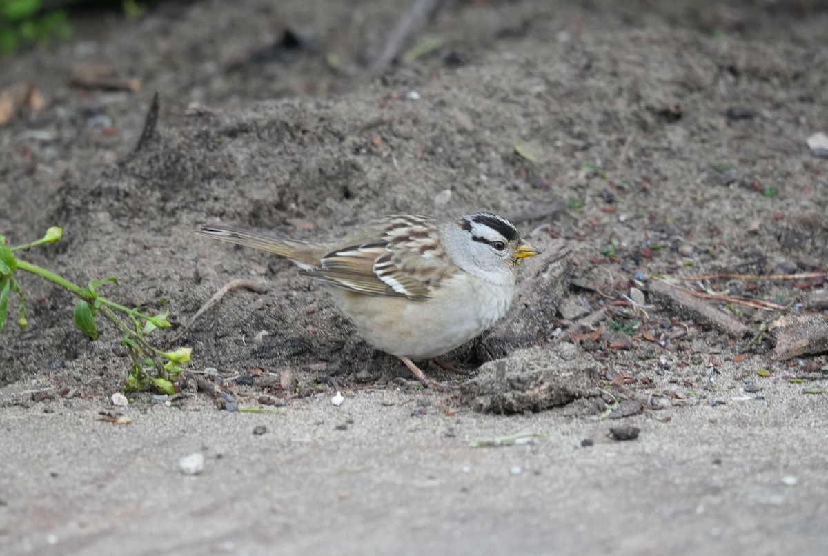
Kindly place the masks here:
<instances>
[{"instance_id":1,"label":"bright green leafy sprig with yellowish buds drooping onto the dirt","mask_svg":"<svg viewBox=\"0 0 828 556\"><path fill-rule=\"evenodd\" d=\"M31 247L57 242L62 235L63 231L55 226L49 228L46 235L36 242L24 243L17 247L8 247L6 237L0 235L0 331L6 324L9 314L9 299L12 295L17 295L19 300L17 308L20 317L17 320L17 325L20 328L26 328L28 324L23 290L15 277L17 271L40 276L44 280L60 285L60 287L69 290L80 298L78 303L75 304L73 312L75 326L89 338L98 338L98 325L95 318L99 314L103 314L104 318L108 319L123 334L121 343L127 346L132 358L132 367L124 386L125 391L141 391L154 388L156 391L165 394L174 394L176 389L173 381L181 372L181 365L190 361L192 348L176 348L171 352L165 352L152 346L147 341L147 336L154 332L156 328L169 328L171 326L166 319L168 314L166 309L159 314L152 315L139 311L138 308L130 309L123 304L103 297L98 293L98 289L106 284L118 284L118 279L114 276L108 276L103 280L89 280L84 288L41 266L24 261L16 255L16 253L27 251ZM119 314L125 316L125 319L118 316Z\"/></svg>"}]
</instances>

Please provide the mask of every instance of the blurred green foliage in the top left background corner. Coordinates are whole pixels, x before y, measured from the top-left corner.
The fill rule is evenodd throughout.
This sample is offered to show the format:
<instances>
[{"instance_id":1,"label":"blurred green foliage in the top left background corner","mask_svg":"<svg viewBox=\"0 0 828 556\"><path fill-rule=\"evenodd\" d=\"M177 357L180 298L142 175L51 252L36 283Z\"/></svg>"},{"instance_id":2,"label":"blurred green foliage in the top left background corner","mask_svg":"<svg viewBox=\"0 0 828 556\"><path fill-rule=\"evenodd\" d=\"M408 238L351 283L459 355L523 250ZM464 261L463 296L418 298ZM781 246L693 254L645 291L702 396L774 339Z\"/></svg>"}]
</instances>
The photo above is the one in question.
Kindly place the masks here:
<instances>
[{"instance_id":1,"label":"blurred green foliage in the top left background corner","mask_svg":"<svg viewBox=\"0 0 828 556\"><path fill-rule=\"evenodd\" d=\"M41 0L0 0L0 54L22 44L48 45L70 36L72 26L64 10L41 13Z\"/></svg>"}]
</instances>

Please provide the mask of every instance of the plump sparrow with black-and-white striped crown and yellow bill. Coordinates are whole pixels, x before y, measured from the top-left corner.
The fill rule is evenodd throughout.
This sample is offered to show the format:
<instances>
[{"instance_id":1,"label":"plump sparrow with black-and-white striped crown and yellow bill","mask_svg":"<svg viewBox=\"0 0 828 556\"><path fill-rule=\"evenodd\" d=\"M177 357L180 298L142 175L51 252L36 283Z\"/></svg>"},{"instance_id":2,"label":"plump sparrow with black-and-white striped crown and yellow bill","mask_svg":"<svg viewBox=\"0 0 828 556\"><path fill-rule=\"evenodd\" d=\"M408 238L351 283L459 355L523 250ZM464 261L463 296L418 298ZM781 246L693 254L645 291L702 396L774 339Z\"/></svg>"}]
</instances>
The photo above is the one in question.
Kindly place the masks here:
<instances>
[{"instance_id":1,"label":"plump sparrow with black-and-white striped crown and yellow bill","mask_svg":"<svg viewBox=\"0 0 828 556\"><path fill-rule=\"evenodd\" d=\"M300 242L223 225L200 234L285 256L320 280L368 343L412 359L437 357L475 338L512 303L521 259L540 253L506 218L457 220L394 214L334 242Z\"/></svg>"}]
</instances>

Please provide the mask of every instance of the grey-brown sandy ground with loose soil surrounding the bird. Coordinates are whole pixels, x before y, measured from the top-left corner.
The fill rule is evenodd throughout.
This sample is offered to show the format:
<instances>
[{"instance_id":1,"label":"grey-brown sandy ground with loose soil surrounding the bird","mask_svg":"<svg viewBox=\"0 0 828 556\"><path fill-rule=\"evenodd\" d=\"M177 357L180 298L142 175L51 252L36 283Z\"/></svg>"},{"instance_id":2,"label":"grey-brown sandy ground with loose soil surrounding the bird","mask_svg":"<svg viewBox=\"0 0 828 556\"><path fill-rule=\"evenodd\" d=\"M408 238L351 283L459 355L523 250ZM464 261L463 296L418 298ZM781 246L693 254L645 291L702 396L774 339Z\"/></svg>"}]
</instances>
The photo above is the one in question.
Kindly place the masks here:
<instances>
[{"instance_id":1,"label":"grey-brown sandy ground with loose soil surrounding the bird","mask_svg":"<svg viewBox=\"0 0 828 556\"><path fill-rule=\"evenodd\" d=\"M107 295L166 298L177 328L229 280L267 286L181 338L181 395L116 407L118 334L89 341L69 294L18 276L30 322L0 336L0 552L828 554L825 355L774 357L778 332L748 345L774 310L700 301L753 330L740 337L650 291L652 276L796 275L681 285L820 318L828 159L805 141L828 132L825 7L455 2L426 27L441 46L369 74L407 5L87 16L69 44L0 60L0 87L31 81L45 101L0 127L0 232L65 230L21 258L81 284L118 276ZM140 91L70 85L89 62ZM481 209L567 254L527 261L503 324L446 356L463 395L408 386L290 265L191 232L310 239ZM631 288L646 313L623 304ZM207 367L270 411L217 409L195 389ZM556 407L475 411L503 394L498 369L509 395L534 377ZM635 408L613 419L613 400ZM527 442L479 445L514 434ZM195 476L178 467L191 453Z\"/></svg>"}]
</instances>

